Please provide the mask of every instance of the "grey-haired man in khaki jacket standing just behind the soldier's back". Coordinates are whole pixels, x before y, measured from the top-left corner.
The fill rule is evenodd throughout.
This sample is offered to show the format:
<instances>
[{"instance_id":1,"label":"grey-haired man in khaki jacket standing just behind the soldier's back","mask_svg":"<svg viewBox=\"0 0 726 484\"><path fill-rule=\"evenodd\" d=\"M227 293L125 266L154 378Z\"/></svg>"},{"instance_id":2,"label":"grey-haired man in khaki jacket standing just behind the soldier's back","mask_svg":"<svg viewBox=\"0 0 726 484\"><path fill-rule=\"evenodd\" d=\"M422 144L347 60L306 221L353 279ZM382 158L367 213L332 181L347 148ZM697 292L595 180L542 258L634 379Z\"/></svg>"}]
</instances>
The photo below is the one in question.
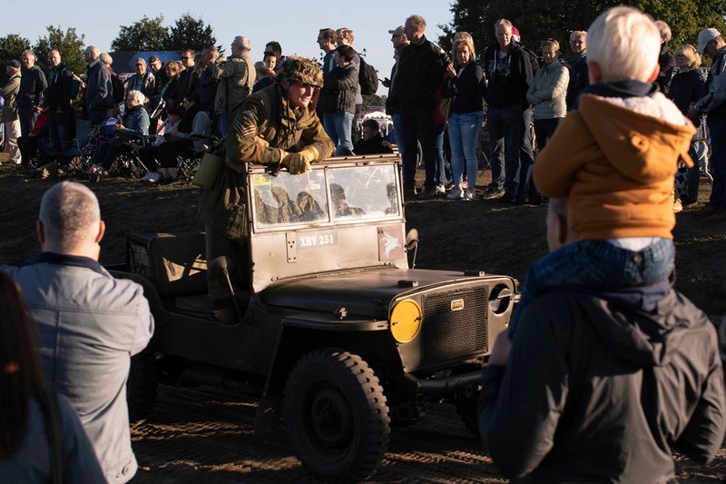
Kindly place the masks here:
<instances>
[{"instance_id":1,"label":"grey-haired man in khaki jacket standing just behind the soldier's back","mask_svg":"<svg viewBox=\"0 0 726 484\"><path fill-rule=\"evenodd\" d=\"M227 134L228 120L252 93L255 84L255 65L250 59L252 43L248 37L237 35L231 44L232 56L225 62L211 64L212 76L217 81L214 113L217 116L217 134Z\"/></svg>"}]
</instances>

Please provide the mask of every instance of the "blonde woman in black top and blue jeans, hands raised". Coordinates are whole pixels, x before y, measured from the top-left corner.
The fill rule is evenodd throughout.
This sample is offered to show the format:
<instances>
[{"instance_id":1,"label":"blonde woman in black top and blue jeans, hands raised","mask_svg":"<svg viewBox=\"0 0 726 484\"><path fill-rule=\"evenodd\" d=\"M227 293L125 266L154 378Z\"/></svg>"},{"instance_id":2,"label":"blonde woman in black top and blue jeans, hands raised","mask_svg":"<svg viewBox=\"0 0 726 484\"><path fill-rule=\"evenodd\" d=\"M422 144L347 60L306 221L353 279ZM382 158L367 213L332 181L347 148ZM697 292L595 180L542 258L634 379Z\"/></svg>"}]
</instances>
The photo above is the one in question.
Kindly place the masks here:
<instances>
[{"instance_id":1,"label":"blonde woman in black top and blue jeans, hands raised","mask_svg":"<svg viewBox=\"0 0 726 484\"><path fill-rule=\"evenodd\" d=\"M482 91L484 74L476 64L476 52L471 36L462 37L454 44L454 63L446 66L449 81L443 94L451 98L448 115L448 142L451 147L451 171L454 188L448 194L451 200L476 199L476 143L482 127ZM468 175L468 188L464 190L464 169Z\"/></svg>"}]
</instances>

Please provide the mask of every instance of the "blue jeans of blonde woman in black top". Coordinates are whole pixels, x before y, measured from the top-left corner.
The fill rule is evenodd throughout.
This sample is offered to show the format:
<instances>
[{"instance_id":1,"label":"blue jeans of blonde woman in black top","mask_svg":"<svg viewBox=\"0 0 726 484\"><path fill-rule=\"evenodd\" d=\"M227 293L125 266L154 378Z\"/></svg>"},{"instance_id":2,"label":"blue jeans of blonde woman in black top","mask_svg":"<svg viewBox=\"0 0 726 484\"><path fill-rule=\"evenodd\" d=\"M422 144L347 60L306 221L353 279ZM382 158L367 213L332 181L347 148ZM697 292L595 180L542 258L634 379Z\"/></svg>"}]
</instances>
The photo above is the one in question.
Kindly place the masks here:
<instances>
[{"instance_id":1,"label":"blue jeans of blonde woman in black top","mask_svg":"<svg viewBox=\"0 0 726 484\"><path fill-rule=\"evenodd\" d=\"M479 162L476 160L476 142L482 128L482 113L452 113L448 117L448 143L451 146L451 172L454 174L454 183L461 184L466 175L469 187L476 186L476 173L479 171Z\"/></svg>"}]
</instances>

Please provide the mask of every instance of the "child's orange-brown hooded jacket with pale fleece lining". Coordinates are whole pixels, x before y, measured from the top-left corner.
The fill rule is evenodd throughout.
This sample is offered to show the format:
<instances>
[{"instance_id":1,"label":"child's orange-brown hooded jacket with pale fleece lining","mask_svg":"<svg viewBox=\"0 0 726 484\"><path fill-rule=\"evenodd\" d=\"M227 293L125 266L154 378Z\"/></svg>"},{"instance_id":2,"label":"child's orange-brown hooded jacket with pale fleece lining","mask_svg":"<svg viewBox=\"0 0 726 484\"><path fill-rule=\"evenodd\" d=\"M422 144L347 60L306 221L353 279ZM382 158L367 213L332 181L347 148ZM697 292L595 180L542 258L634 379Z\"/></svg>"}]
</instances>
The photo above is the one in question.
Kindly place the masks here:
<instances>
[{"instance_id":1,"label":"child's orange-brown hooded jacket with pale fleece lining","mask_svg":"<svg viewBox=\"0 0 726 484\"><path fill-rule=\"evenodd\" d=\"M547 197L567 201L579 240L621 237L672 239L673 177L688 155L693 124L675 104L650 95L580 97L537 156L534 177Z\"/></svg>"}]
</instances>

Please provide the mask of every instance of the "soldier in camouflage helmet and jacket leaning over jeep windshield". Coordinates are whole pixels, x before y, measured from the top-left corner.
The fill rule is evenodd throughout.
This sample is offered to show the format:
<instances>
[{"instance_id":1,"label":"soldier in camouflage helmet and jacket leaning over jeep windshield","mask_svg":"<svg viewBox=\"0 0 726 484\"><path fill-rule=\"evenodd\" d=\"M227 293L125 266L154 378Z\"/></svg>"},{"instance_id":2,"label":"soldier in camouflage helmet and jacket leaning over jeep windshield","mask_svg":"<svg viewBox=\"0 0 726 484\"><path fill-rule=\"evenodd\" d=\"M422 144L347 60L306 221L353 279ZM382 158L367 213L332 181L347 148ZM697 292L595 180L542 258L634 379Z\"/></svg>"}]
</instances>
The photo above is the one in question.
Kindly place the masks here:
<instances>
[{"instance_id":1,"label":"soldier in camouflage helmet and jacket leaning over jeep windshield","mask_svg":"<svg viewBox=\"0 0 726 484\"><path fill-rule=\"evenodd\" d=\"M215 271L223 257L231 282L250 289L247 243L244 234L247 194L245 163L287 168L305 173L310 163L333 153L333 143L315 114L315 100L323 85L318 64L289 56L280 66L275 83L247 97L236 114L226 142L224 165L210 190L201 194L200 215L205 225L212 309L219 321L235 322L229 285ZM230 262L233 264L231 267Z\"/></svg>"}]
</instances>

